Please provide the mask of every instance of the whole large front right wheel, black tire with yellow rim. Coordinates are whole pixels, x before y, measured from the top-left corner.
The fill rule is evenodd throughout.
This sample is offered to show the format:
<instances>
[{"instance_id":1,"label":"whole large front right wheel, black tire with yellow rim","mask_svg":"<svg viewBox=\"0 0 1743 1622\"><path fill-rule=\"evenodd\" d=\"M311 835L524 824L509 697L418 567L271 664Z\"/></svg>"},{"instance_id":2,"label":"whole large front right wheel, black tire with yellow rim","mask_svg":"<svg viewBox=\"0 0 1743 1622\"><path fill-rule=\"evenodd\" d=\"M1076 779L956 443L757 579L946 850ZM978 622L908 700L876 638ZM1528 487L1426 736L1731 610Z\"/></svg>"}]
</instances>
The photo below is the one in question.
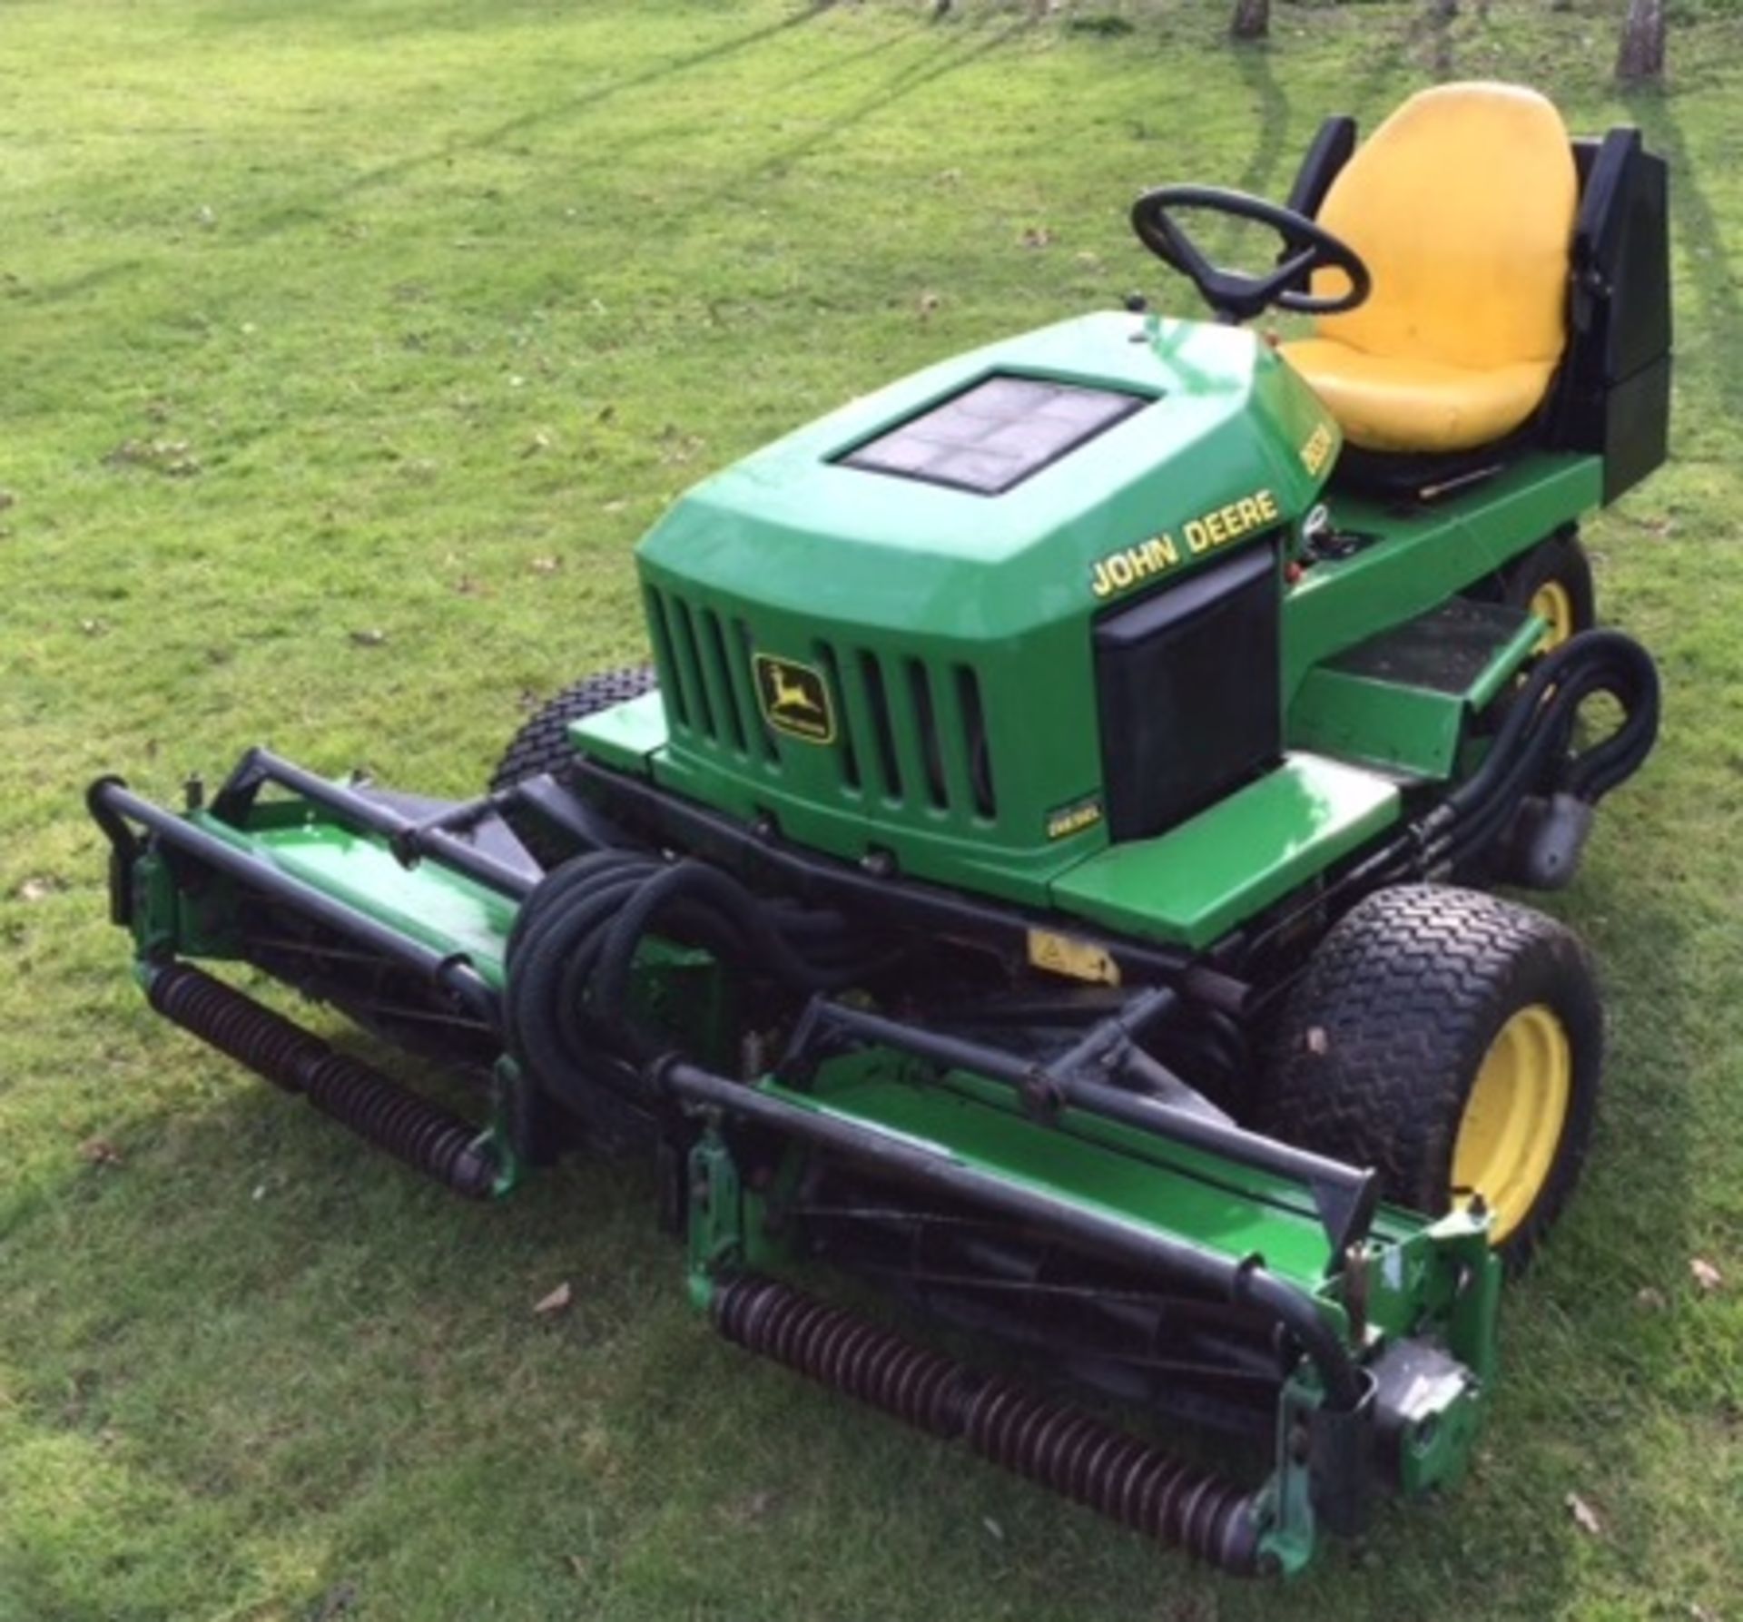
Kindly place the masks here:
<instances>
[{"instance_id":1,"label":"whole large front right wheel, black tire with yellow rim","mask_svg":"<svg viewBox=\"0 0 1743 1622\"><path fill-rule=\"evenodd\" d=\"M1387 1199L1431 1216L1475 1185L1518 1270L1579 1179L1602 1058L1604 1012L1572 930L1475 890L1400 885L1319 943L1278 1023L1257 1117L1375 1167Z\"/></svg>"}]
</instances>

